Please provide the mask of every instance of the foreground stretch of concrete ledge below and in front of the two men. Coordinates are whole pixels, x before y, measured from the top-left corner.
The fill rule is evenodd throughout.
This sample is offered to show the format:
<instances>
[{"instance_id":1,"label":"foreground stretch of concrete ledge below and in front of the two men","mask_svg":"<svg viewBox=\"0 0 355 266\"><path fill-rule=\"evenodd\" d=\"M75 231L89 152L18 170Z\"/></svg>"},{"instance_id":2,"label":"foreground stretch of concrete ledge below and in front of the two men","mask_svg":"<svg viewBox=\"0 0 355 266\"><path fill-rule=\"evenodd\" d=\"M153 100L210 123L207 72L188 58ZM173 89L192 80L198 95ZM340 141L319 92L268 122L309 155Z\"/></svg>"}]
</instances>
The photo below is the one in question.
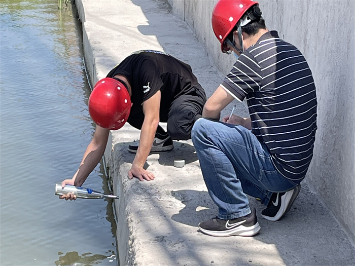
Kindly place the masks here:
<instances>
[{"instance_id":1,"label":"foreground stretch of concrete ledge below and in front of the two men","mask_svg":"<svg viewBox=\"0 0 355 266\"><path fill-rule=\"evenodd\" d=\"M351 265L354 249L342 227L302 183L288 215L278 222L260 217L262 231L253 238L214 238L198 232L198 223L214 217L191 142L174 142L169 153L152 154L146 167L154 181L129 180L134 155L127 153L136 130L113 139L110 173L121 195L117 212L120 265ZM183 168L173 160L184 157Z\"/></svg>"}]
</instances>

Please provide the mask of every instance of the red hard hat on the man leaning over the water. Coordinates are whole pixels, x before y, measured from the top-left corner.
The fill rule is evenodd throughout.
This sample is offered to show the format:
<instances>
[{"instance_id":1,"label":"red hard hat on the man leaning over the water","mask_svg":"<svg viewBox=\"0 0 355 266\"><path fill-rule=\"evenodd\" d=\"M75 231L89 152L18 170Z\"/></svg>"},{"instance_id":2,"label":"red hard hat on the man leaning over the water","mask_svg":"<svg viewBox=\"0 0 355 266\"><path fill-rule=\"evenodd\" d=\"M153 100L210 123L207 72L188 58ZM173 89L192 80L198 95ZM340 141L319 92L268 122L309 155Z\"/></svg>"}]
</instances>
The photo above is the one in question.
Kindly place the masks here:
<instances>
[{"instance_id":1,"label":"red hard hat on the man leaning over the water","mask_svg":"<svg viewBox=\"0 0 355 266\"><path fill-rule=\"evenodd\" d=\"M89 97L92 120L103 128L117 130L126 123L131 110L131 98L126 87L112 78L99 80Z\"/></svg>"}]
</instances>

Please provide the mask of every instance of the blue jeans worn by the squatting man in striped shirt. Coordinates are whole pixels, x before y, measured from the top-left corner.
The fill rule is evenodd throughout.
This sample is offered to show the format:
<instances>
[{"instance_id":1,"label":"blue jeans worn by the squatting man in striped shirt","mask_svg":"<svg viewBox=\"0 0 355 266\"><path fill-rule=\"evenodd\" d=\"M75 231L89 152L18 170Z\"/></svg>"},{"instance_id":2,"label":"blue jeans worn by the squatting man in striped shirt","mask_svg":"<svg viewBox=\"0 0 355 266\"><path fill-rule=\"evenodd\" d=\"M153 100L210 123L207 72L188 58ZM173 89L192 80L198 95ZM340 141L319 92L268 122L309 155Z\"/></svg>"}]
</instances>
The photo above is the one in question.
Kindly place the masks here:
<instances>
[{"instance_id":1,"label":"blue jeans worn by the squatting man in striped shirt","mask_svg":"<svg viewBox=\"0 0 355 266\"><path fill-rule=\"evenodd\" d=\"M191 137L220 219L251 213L246 194L267 206L273 192L289 191L299 183L283 177L266 145L242 126L201 118L195 122Z\"/></svg>"}]
</instances>

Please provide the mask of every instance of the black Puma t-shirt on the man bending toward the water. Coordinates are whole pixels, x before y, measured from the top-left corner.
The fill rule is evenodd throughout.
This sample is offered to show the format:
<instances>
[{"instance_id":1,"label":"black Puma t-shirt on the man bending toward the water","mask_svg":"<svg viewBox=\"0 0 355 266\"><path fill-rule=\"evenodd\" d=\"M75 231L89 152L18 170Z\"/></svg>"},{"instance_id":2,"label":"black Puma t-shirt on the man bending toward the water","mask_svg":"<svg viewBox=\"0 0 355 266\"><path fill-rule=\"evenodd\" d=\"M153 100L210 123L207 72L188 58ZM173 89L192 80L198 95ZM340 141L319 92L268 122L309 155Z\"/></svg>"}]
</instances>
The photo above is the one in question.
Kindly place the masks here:
<instances>
[{"instance_id":1,"label":"black Puma t-shirt on the man bending toward the water","mask_svg":"<svg viewBox=\"0 0 355 266\"><path fill-rule=\"evenodd\" d=\"M132 119L144 118L143 102L159 90L160 121L166 122L171 102L180 95L195 91L194 85L198 85L188 64L159 51L143 50L132 53L112 69L107 77L113 78L117 74L124 75L132 89L133 105L128 123Z\"/></svg>"}]
</instances>

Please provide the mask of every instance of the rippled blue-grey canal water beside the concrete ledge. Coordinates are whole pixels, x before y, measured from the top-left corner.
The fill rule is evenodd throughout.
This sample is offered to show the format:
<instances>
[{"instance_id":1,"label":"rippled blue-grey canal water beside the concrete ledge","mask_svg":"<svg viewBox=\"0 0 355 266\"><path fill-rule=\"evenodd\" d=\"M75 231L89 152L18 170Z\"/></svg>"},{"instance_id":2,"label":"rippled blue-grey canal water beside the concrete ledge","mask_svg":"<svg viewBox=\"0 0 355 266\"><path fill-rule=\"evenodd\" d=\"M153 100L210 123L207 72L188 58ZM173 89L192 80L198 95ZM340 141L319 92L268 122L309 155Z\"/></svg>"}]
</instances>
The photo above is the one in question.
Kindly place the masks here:
<instances>
[{"instance_id":1,"label":"rippled blue-grey canal water beside the concrete ledge","mask_svg":"<svg viewBox=\"0 0 355 266\"><path fill-rule=\"evenodd\" d=\"M4 265L117 265L112 200L59 200L94 131L81 33L57 0L0 2ZM102 164L84 183L109 194Z\"/></svg>"}]
</instances>

